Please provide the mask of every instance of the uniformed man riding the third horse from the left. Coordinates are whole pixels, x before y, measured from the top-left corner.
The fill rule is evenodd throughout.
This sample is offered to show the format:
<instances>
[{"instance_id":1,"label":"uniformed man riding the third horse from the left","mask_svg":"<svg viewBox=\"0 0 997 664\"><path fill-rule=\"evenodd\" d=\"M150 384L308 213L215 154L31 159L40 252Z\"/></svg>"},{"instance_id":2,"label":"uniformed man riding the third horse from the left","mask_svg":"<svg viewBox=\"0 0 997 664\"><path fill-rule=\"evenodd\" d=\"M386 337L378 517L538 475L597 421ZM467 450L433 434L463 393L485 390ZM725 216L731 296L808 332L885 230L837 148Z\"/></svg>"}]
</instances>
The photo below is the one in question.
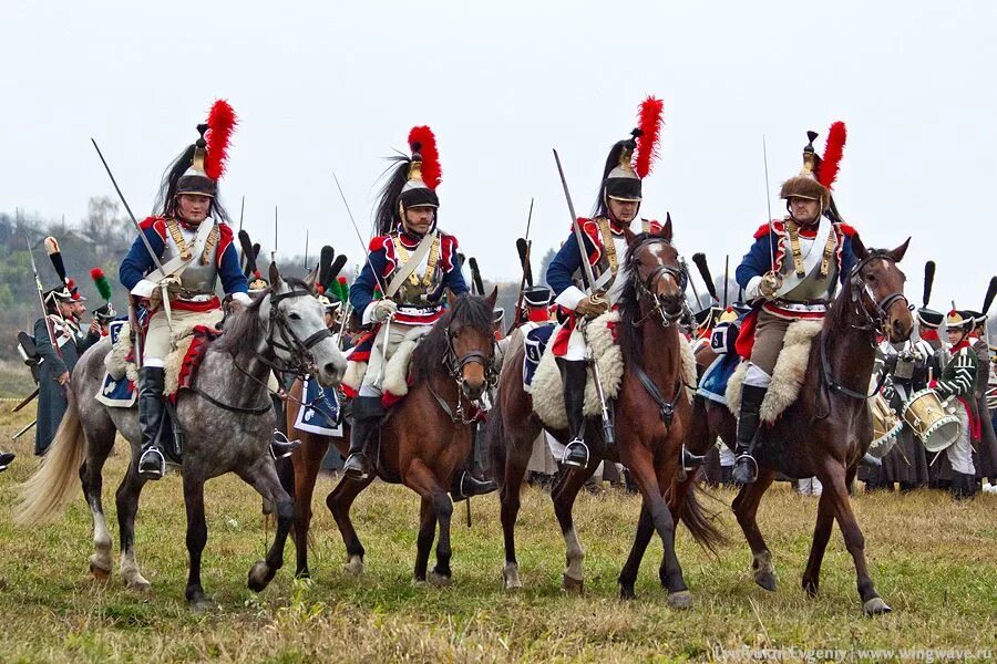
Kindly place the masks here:
<instances>
[{"instance_id":1,"label":"uniformed man riding the third horse from the left","mask_svg":"<svg viewBox=\"0 0 997 664\"><path fill-rule=\"evenodd\" d=\"M574 232L547 267L546 281L554 291L554 302L566 319L554 332L553 353L564 383L571 440L562 460L567 466L588 465L588 446L583 430L587 344L578 323L602 315L616 303L618 292L611 287L627 251L625 229L640 234L657 232L661 228L657 221L637 217L643 197L641 183L650 173L656 152L661 110L662 102L655 97L648 97L640 105L640 126L630 133L629 138L617 142L606 158L596 215L590 219L578 219L585 256L596 283L584 283L582 251ZM579 272L583 274L583 288L588 288L588 292L575 284L575 274ZM607 291L608 299L603 294Z\"/></svg>"}]
</instances>

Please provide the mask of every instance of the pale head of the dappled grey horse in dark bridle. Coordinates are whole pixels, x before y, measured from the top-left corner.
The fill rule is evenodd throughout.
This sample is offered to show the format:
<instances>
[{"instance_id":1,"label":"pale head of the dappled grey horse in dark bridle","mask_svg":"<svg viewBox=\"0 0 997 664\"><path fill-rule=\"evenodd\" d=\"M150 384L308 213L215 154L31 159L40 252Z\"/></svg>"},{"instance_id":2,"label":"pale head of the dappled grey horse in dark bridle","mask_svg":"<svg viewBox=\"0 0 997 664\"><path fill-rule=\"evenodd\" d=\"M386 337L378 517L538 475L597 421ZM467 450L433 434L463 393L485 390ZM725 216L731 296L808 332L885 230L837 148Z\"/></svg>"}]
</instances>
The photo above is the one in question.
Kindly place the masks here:
<instances>
[{"instance_id":1,"label":"pale head of the dappled grey horse in dark bridle","mask_svg":"<svg viewBox=\"0 0 997 664\"><path fill-rule=\"evenodd\" d=\"M326 387L335 387L346 373L346 357L326 326L325 310L309 283L314 279L284 279L276 263L270 263L270 287L259 301L257 315L278 360L314 375Z\"/></svg>"}]
</instances>

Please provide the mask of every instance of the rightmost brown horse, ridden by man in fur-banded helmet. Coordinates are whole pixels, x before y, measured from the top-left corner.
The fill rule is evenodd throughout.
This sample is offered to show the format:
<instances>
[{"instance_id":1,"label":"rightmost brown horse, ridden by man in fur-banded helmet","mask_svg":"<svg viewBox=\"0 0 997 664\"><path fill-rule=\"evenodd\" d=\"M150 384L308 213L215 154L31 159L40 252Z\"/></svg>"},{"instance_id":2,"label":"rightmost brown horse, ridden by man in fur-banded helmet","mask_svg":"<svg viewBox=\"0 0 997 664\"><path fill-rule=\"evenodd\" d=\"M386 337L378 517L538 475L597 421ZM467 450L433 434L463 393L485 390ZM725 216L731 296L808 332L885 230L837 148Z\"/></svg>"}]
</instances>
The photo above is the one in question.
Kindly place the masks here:
<instances>
[{"instance_id":1,"label":"rightmost brown horse, ridden by man in fur-banded helmet","mask_svg":"<svg viewBox=\"0 0 997 664\"><path fill-rule=\"evenodd\" d=\"M836 518L855 562L865 613L874 615L891 610L868 577L865 539L852 512L847 487L872 440L866 393L876 335L884 333L892 342L904 341L914 325L903 294L906 278L896 266L909 241L885 251L866 250L857 236L852 238L857 263L832 303L821 333L814 338L800 397L775 424L763 425L759 430L758 480L741 487L732 508L751 547L754 581L765 590L775 590L775 567L756 518L761 497L777 473L794 478L816 476L823 492L810 559L803 572L803 589L811 596L818 592L824 549ZM697 397L693 412L689 443L692 452L708 447L717 435L733 448L737 419L726 406ZM641 521L630 552L635 567L640 564L651 537L650 523L644 522L644 517ZM661 564L664 568L665 562Z\"/></svg>"}]
</instances>

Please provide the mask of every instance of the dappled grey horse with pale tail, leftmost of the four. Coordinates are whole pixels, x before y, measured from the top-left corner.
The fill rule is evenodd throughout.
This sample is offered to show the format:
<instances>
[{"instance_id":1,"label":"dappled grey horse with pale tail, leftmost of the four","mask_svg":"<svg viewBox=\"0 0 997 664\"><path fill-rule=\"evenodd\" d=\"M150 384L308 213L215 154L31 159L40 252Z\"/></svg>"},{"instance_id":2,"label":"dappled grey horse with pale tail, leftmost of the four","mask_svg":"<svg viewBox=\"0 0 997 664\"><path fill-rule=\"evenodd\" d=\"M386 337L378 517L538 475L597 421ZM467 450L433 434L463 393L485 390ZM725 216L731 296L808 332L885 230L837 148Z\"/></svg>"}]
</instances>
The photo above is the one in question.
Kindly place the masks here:
<instances>
[{"instance_id":1,"label":"dappled grey horse with pale tail, leftmost of the four","mask_svg":"<svg viewBox=\"0 0 997 664\"><path fill-rule=\"evenodd\" d=\"M270 268L270 286L250 307L226 321L225 332L208 346L195 390L176 400L177 419L185 434L183 452L186 544L189 570L185 595L191 606L210 605L201 582L202 552L207 542L204 513L206 480L235 473L277 509L277 532L266 559L249 570L248 585L260 591L284 564L284 547L294 522L294 499L280 486L269 452L276 417L267 391L271 367L284 365L309 372L325 385L338 385L346 359L327 331L322 305L308 283L280 278ZM54 519L73 495L72 476L79 470L83 495L93 517L94 553L90 570L106 579L112 569L111 536L104 518L102 469L121 433L132 447L127 473L117 489L121 537L121 575L125 585L147 590L135 556L135 515L145 479L138 475L137 408L110 408L96 401L104 378L107 339L84 353L73 371L69 408L49 455L21 487L14 510L22 525Z\"/></svg>"}]
</instances>

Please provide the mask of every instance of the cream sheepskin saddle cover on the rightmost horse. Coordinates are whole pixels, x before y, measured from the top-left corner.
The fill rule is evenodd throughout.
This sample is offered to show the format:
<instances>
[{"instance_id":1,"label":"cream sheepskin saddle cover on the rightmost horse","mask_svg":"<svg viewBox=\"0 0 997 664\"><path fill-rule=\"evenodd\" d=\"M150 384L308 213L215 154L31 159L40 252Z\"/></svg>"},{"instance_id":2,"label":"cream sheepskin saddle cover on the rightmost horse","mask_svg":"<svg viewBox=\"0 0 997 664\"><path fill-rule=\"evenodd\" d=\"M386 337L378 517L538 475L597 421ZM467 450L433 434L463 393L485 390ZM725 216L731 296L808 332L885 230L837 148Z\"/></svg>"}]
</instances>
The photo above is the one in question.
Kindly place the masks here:
<instances>
[{"instance_id":1,"label":"cream sheepskin saddle cover on the rightmost horse","mask_svg":"<svg viewBox=\"0 0 997 664\"><path fill-rule=\"evenodd\" d=\"M800 396L800 390L806 380L806 364L810 362L810 346L814 336L820 334L823 321L795 321L790 323L782 342L782 351L772 371L772 383L765 392L759 415L768 424L774 423L782 413ZM721 362L723 357L717 360ZM744 387L744 375L748 362L741 362L727 382L724 395L727 407L737 417L741 412L741 392Z\"/></svg>"}]
</instances>

